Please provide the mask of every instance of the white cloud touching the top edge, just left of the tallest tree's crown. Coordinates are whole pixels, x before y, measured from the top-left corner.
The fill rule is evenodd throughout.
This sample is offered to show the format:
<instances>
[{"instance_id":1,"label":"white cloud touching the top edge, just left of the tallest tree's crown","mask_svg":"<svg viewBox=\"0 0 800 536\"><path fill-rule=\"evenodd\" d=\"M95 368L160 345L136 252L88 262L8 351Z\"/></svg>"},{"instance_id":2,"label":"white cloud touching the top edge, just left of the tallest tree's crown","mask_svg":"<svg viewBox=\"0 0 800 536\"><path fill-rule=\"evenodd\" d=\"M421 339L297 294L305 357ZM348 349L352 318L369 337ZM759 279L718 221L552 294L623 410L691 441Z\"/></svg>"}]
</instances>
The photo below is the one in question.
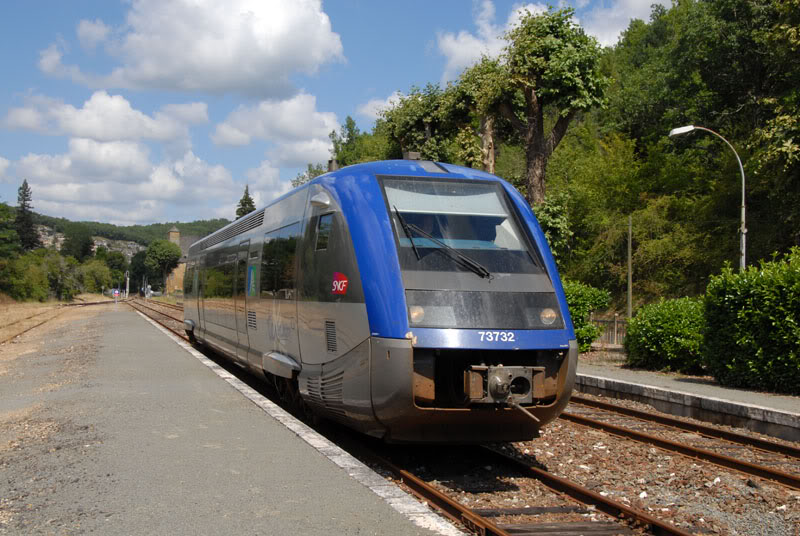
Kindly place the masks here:
<instances>
[{"instance_id":1,"label":"white cloud touching the top edge, just left of the tallest tree's crown","mask_svg":"<svg viewBox=\"0 0 800 536\"><path fill-rule=\"evenodd\" d=\"M519 22L522 13L543 13L546 4L515 5L504 26L494 23L495 8L491 0L482 0L474 4L474 20L477 35L462 30L455 33L444 32L437 36L439 51L445 56L446 63L442 74L442 83L455 80L461 72L477 62L481 56L497 57L506 45L503 35Z\"/></svg>"}]
</instances>

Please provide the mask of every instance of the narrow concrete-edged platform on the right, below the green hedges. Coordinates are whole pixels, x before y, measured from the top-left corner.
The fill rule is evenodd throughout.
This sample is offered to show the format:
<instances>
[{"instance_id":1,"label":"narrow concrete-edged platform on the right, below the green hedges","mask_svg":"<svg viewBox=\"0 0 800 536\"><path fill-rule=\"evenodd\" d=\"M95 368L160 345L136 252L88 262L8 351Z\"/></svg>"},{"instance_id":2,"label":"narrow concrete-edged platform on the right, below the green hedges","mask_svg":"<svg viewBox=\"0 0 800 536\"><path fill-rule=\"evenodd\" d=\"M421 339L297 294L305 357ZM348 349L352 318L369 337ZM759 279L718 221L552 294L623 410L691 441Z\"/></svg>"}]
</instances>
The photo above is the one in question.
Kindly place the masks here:
<instances>
[{"instance_id":1,"label":"narrow concrete-edged platform on the right, below the green hedges","mask_svg":"<svg viewBox=\"0 0 800 536\"><path fill-rule=\"evenodd\" d=\"M637 400L659 411L800 441L800 397L721 387L703 378L618 365L578 365L580 392Z\"/></svg>"}]
</instances>

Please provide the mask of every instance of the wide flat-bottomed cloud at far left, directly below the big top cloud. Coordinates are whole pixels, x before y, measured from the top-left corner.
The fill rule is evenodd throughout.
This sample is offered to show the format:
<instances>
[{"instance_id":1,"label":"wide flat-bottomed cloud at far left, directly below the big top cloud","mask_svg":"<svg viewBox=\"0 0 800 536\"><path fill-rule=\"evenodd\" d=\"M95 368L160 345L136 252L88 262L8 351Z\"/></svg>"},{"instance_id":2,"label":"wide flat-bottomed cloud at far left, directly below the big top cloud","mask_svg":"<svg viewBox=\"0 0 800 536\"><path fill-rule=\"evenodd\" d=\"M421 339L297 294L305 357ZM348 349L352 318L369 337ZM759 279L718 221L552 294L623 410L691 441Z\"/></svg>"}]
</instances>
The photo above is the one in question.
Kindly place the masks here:
<instances>
[{"instance_id":1,"label":"wide flat-bottomed cloud at far left, directly below the big top cloud","mask_svg":"<svg viewBox=\"0 0 800 536\"><path fill-rule=\"evenodd\" d=\"M188 125L207 121L205 103L169 104L151 117L121 95L96 91L82 108L49 97L28 97L24 107L9 110L4 123L9 128L98 141L168 141L188 138Z\"/></svg>"}]
</instances>

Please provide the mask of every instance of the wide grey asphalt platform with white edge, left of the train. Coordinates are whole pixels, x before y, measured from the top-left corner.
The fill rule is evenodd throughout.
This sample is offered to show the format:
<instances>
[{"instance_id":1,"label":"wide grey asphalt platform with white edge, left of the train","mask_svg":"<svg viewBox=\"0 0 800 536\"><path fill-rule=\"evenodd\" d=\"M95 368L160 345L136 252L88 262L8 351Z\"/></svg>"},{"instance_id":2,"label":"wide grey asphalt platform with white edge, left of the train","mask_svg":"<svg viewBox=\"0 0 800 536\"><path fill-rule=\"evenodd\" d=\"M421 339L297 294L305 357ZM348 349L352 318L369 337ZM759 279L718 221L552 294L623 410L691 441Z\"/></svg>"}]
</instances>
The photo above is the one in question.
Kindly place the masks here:
<instances>
[{"instance_id":1,"label":"wide grey asphalt platform with white edge, left of the train","mask_svg":"<svg viewBox=\"0 0 800 536\"><path fill-rule=\"evenodd\" d=\"M9 458L0 497L9 511L14 497L31 503L7 516L9 533L461 534L159 330L106 306L52 334L52 356L94 334L79 380L52 391L17 383L0 397L9 410L36 398L42 418L64 423L57 442Z\"/></svg>"}]
</instances>

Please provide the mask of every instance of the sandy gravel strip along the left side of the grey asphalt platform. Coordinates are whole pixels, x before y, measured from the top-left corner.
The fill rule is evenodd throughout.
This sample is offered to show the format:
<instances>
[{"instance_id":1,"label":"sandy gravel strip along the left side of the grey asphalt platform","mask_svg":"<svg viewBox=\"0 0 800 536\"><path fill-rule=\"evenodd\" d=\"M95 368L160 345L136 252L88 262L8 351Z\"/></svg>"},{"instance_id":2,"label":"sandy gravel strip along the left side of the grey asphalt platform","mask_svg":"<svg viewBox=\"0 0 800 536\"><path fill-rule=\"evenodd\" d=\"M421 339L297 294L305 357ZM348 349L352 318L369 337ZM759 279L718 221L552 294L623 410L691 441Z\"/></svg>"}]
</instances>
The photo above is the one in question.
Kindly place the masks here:
<instances>
[{"instance_id":1,"label":"sandy gravel strip along the left side of the grey asphalt platform","mask_svg":"<svg viewBox=\"0 0 800 536\"><path fill-rule=\"evenodd\" d=\"M50 500L86 477L81 462L102 438L58 405L85 381L97 339L91 319L99 312L65 311L46 331L0 346L0 534L79 532L83 508Z\"/></svg>"}]
</instances>

